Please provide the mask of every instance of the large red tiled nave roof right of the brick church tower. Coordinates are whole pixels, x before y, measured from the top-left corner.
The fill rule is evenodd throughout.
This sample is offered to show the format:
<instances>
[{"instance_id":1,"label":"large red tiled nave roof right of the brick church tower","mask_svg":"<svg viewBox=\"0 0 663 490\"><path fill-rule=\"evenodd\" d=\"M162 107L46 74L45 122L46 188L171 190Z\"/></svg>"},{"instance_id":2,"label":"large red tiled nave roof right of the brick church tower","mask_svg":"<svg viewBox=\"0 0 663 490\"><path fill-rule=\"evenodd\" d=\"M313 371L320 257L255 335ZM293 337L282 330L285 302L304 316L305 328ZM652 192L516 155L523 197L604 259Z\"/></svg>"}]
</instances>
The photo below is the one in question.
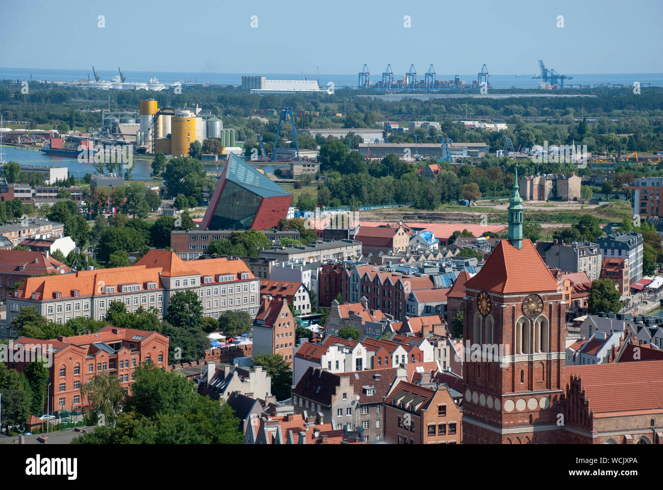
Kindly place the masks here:
<instances>
[{"instance_id":1,"label":"large red tiled nave roof right of the brick church tower","mask_svg":"<svg viewBox=\"0 0 663 490\"><path fill-rule=\"evenodd\" d=\"M663 361L567 366L564 373L566 382L581 378L594 414L663 409Z\"/></svg>"}]
</instances>

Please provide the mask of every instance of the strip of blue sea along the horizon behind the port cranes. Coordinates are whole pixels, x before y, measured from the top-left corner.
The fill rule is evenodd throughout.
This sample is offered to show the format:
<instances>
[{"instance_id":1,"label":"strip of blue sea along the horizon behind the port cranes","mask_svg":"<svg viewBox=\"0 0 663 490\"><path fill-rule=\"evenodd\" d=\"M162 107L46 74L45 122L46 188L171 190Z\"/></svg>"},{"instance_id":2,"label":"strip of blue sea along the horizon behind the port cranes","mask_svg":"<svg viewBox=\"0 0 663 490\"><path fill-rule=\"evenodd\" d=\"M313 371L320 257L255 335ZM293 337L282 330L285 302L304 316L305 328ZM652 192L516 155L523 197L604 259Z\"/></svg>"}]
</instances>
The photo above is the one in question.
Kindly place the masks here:
<instances>
[{"instance_id":1,"label":"strip of blue sea along the horizon behind the port cranes","mask_svg":"<svg viewBox=\"0 0 663 490\"><path fill-rule=\"evenodd\" d=\"M46 82L73 82L74 80L88 80L91 75L90 68L80 70L60 70L44 68L0 68L0 80L43 80ZM102 80L112 80L118 74L115 70L97 70ZM129 82L148 82L150 78L158 78L161 83L189 82L215 85L240 85L242 76L266 76L270 80L302 80L302 74L292 73L207 73L207 72L143 72L125 71ZM528 74L502 74L491 75L489 82L493 88L538 88L540 79L532 78L535 73ZM565 84L581 84L597 86L599 84L621 84L633 85L634 82L650 84L650 86L663 86L663 73L607 73L607 74L572 74L572 80L566 80ZM402 73L395 73L396 80L402 78ZM438 74L438 80L453 80L455 74ZM357 74L318 74L304 73L307 80L320 80L320 86L326 88L328 82L333 82L335 88L356 88ZM476 80L477 74L461 74L461 80L471 83ZM420 72L418 78L424 78L424 72ZM92 78L93 79L93 78ZM381 80L381 70L375 70L371 77L372 82Z\"/></svg>"}]
</instances>

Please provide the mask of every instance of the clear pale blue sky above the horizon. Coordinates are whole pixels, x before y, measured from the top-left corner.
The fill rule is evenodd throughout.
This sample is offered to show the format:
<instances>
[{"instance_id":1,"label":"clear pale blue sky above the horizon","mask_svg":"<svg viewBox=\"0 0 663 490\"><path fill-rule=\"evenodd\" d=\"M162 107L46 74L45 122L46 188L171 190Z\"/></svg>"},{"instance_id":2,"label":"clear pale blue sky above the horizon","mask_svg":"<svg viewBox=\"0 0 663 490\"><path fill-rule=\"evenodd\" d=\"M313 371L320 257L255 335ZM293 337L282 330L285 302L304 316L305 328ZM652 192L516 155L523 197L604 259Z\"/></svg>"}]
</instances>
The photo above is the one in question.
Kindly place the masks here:
<instances>
[{"instance_id":1,"label":"clear pale blue sky above the horizon","mask_svg":"<svg viewBox=\"0 0 663 490\"><path fill-rule=\"evenodd\" d=\"M0 0L0 66L658 73L661 21L663 0Z\"/></svg>"}]
</instances>

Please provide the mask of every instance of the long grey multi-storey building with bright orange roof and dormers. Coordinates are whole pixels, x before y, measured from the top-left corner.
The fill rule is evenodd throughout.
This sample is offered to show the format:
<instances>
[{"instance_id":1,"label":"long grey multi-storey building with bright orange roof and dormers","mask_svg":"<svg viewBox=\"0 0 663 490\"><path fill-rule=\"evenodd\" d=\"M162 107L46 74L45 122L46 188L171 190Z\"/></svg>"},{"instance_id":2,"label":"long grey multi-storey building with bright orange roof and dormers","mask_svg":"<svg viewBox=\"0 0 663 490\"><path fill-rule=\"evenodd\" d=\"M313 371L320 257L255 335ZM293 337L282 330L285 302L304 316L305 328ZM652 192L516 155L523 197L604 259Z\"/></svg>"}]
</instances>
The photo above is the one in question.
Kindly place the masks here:
<instances>
[{"instance_id":1,"label":"long grey multi-storey building with bright orange roof and dormers","mask_svg":"<svg viewBox=\"0 0 663 490\"><path fill-rule=\"evenodd\" d=\"M170 296L187 290L196 292L206 317L229 310L255 316L260 305L260 280L241 260L184 262L174 252L150 250L135 266L29 278L7 298L7 325L27 306L59 325L76 317L101 320L113 301L128 311L154 308L163 317Z\"/></svg>"}]
</instances>

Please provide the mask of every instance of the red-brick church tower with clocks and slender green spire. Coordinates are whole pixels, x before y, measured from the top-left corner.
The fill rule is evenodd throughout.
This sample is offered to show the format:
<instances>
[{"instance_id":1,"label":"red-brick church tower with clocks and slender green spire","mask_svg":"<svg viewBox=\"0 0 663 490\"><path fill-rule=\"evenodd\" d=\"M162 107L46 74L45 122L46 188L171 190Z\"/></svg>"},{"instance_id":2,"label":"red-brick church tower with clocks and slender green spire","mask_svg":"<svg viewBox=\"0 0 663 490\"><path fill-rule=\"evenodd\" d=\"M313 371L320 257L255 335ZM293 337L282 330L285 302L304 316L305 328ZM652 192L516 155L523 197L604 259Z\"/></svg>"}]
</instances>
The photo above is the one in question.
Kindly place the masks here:
<instances>
[{"instance_id":1,"label":"red-brick church tower with clocks and slender green spire","mask_svg":"<svg viewBox=\"0 0 663 490\"><path fill-rule=\"evenodd\" d=\"M563 289L522 238L518 173L501 240L463 298L463 443L558 440L566 304Z\"/></svg>"}]
</instances>

